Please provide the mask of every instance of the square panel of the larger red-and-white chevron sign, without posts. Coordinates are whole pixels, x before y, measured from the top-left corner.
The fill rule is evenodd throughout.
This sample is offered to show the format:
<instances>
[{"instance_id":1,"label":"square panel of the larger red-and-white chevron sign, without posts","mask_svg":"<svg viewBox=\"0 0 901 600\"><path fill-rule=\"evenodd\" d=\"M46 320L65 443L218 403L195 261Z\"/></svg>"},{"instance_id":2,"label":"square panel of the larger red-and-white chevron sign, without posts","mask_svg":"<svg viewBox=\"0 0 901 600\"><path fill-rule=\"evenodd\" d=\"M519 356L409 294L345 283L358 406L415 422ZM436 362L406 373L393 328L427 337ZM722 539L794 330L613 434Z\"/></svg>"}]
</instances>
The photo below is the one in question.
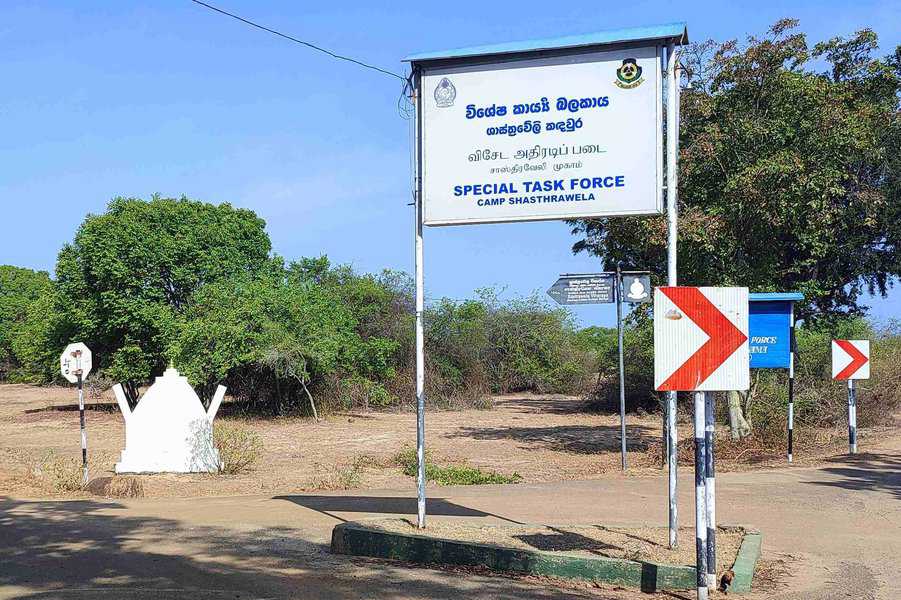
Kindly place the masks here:
<instances>
[{"instance_id":1,"label":"square panel of the larger red-and-white chevron sign, without posts","mask_svg":"<svg viewBox=\"0 0 901 600\"><path fill-rule=\"evenodd\" d=\"M751 385L748 288L660 287L654 292L654 387L746 390Z\"/></svg>"}]
</instances>

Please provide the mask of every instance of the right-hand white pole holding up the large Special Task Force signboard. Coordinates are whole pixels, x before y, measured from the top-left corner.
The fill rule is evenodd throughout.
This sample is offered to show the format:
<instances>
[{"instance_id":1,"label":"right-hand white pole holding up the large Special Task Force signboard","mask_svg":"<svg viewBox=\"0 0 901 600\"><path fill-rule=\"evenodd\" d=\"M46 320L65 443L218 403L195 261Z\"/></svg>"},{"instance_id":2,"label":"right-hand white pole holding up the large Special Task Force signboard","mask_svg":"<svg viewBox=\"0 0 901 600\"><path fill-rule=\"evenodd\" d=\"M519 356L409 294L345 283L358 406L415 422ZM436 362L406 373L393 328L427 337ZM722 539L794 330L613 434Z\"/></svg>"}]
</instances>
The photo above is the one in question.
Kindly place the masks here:
<instances>
[{"instance_id":1,"label":"right-hand white pole holding up the large Special Task Force signboard","mask_svg":"<svg viewBox=\"0 0 901 600\"><path fill-rule=\"evenodd\" d=\"M679 76L676 45L666 49L666 220L667 220L667 285L678 285L677 246L678 201L679 201ZM667 463L669 465L669 545L675 548L679 543L679 508L677 505L677 485L679 470L679 436L676 431L676 392L666 395L666 440Z\"/></svg>"}]
</instances>

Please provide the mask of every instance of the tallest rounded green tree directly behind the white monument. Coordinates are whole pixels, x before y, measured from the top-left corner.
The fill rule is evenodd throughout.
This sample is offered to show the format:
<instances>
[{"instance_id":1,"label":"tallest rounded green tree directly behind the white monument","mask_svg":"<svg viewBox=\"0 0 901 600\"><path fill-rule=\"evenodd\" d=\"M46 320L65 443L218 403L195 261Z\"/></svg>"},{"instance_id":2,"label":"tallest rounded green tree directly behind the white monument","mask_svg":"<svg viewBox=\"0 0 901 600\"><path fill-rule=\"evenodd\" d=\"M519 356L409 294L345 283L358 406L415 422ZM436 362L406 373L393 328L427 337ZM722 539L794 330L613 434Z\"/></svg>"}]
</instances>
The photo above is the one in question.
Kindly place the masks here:
<instances>
[{"instance_id":1,"label":"tallest rounded green tree directly behind the white monument","mask_svg":"<svg viewBox=\"0 0 901 600\"><path fill-rule=\"evenodd\" d=\"M56 308L134 401L136 386L165 368L176 320L195 291L271 272L270 251L264 221L249 210L116 198L60 251Z\"/></svg>"}]
</instances>

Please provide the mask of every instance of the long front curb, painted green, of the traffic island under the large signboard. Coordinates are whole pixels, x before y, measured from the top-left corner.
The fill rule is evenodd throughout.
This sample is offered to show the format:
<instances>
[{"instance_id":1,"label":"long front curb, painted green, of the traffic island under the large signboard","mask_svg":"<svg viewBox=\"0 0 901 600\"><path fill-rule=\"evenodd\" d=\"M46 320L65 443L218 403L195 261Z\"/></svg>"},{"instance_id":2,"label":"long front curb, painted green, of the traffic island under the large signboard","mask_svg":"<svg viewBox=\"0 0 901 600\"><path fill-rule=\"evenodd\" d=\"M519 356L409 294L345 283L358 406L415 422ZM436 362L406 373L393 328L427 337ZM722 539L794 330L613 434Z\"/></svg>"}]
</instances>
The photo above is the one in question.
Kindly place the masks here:
<instances>
[{"instance_id":1,"label":"long front curb, painted green, of the traffic island under the large signboard","mask_svg":"<svg viewBox=\"0 0 901 600\"><path fill-rule=\"evenodd\" d=\"M389 533L354 522L335 526L332 552L419 564L477 566L526 575L603 581L646 592L686 590L696 585L694 567L457 542Z\"/></svg>"}]
</instances>

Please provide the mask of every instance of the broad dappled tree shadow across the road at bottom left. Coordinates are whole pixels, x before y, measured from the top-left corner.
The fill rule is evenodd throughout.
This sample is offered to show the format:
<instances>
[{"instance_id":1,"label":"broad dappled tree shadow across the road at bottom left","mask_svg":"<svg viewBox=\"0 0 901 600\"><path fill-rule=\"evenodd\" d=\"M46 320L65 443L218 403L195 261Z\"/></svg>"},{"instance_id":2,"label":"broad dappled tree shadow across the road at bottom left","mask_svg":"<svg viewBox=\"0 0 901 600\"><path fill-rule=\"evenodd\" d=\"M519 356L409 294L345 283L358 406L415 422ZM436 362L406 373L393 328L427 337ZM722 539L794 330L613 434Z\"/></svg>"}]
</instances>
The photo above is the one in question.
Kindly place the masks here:
<instances>
[{"instance_id":1,"label":"broad dappled tree shadow across the road at bottom left","mask_svg":"<svg viewBox=\"0 0 901 600\"><path fill-rule=\"evenodd\" d=\"M291 528L197 527L112 502L0 498L0 598L456 598L475 590L561 595L333 556Z\"/></svg>"}]
</instances>

